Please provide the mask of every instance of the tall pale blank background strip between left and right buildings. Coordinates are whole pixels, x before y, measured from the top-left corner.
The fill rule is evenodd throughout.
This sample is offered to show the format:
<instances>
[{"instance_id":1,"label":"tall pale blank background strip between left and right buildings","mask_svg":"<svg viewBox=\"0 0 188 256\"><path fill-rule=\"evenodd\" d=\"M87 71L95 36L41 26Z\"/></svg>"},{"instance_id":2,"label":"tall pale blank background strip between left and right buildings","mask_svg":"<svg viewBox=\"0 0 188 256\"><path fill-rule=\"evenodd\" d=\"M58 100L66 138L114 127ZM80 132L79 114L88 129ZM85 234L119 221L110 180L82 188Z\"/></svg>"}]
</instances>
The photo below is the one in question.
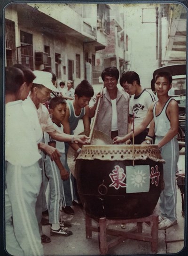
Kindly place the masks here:
<instances>
[{"instance_id":1,"label":"tall pale blank background strip between left and right buildings","mask_svg":"<svg viewBox=\"0 0 188 256\"><path fill-rule=\"evenodd\" d=\"M129 68L139 74L143 87L150 87L153 71L157 68L155 5L125 4L124 6L127 21L126 34L129 37Z\"/></svg>"}]
</instances>

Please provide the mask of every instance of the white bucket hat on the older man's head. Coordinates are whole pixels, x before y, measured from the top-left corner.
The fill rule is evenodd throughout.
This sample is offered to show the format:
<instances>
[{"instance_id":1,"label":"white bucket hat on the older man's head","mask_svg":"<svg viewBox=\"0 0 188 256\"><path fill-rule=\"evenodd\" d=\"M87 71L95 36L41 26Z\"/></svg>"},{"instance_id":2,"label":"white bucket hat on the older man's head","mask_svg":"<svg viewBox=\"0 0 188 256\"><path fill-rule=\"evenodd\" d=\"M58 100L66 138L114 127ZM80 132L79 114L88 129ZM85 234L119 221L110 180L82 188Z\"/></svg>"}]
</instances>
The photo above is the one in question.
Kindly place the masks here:
<instances>
[{"instance_id":1,"label":"white bucket hat on the older man's head","mask_svg":"<svg viewBox=\"0 0 188 256\"><path fill-rule=\"evenodd\" d=\"M36 78L33 80L33 84L44 85L54 92L59 92L59 90L52 83L52 73L34 70L33 74L36 76Z\"/></svg>"}]
</instances>

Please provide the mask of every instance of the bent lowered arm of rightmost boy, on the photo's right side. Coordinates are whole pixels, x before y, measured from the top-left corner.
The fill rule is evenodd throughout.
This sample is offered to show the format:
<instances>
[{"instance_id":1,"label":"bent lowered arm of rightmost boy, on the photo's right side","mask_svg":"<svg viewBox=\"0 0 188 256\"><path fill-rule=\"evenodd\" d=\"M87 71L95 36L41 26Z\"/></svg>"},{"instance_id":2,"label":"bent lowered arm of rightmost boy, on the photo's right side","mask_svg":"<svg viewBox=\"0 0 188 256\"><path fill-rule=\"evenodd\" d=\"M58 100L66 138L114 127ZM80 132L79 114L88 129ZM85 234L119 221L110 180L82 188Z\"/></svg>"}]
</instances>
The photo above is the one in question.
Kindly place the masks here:
<instances>
[{"instance_id":1,"label":"bent lowered arm of rightmost boy, on the photo's right side","mask_svg":"<svg viewBox=\"0 0 188 256\"><path fill-rule=\"evenodd\" d=\"M178 107L178 103L175 100L172 100L171 102L169 102L166 113L170 120L171 128L166 133L166 135L162 138L162 140L159 141L158 143L159 148L161 148L170 140L172 140L172 138L176 136L176 134L178 133L179 107Z\"/></svg>"}]
</instances>

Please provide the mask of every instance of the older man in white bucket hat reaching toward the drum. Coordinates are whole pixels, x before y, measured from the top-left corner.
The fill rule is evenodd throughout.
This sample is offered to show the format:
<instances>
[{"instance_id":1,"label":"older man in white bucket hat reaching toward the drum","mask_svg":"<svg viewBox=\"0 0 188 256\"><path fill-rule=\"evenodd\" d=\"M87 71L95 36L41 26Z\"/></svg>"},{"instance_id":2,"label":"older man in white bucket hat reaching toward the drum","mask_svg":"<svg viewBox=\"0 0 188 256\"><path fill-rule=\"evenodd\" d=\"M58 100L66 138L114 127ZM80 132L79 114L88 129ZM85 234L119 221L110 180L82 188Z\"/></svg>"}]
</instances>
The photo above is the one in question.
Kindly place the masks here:
<instances>
[{"instance_id":1,"label":"older man in white bucket hat reaching toward the drum","mask_svg":"<svg viewBox=\"0 0 188 256\"><path fill-rule=\"evenodd\" d=\"M50 94L52 91L58 91L58 89L52 83L52 74L45 71L35 70L33 71L36 78L33 80L33 85L31 88L30 96L25 100L24 106L25 110L28 111L28 114L31 113L32 106L33 111L37 111L39 117L39 123L41 125L42 131L46 131L50 137L54 138L58 141L66 141L66 142L79 142L84 144L88 137L85 135L72 136L68 134L60 134L55 130L53 122L50 118L49 112L47 108L43 105L50 98ZM29 110L30 109L30 110ZM35 129L35 127L33 126ZM51 156L52 160L56 160L60 154L58 150L55 148L46 145L44 143L39 144L39 148L45 153ZM57 164L57 163L56 163ZM43 169L43 161L40 162L41 169ZM43 170L42 170L43 171ZM42 175L42 173L41 173ZM42 193L43 193L43 184L40 188L40 193L38 196L37 204L36 204L36 215L39 222L39 232L41 235L41 240L44 243L49 243L51 239L43 234L41 219L42 219ZM71 233L70 233L71 234Z\"/></svg>"}]
</instances>

